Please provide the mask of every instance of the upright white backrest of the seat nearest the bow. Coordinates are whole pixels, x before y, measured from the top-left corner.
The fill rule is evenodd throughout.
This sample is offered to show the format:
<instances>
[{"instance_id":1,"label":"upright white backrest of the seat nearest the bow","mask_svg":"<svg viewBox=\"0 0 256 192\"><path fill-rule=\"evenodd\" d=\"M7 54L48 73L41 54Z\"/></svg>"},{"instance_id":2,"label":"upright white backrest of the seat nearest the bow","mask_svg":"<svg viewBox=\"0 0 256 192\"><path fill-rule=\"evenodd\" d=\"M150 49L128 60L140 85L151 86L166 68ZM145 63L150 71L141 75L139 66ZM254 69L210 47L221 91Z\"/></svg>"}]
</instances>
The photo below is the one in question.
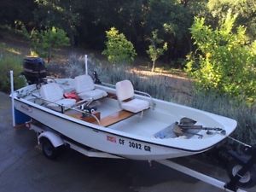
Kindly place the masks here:
<instances>
[{"instance_id":1,"label":"upright white backrest of the seat nearest the bow","mask_svg":"<svg viewBox=\"0 0 256 192\"><path fill-rule=\"evenodd\" d=\"M130 80L119 81L115 84L116 96L120 102L134 96L134 89Z\"/></svg>"}]
</instances>

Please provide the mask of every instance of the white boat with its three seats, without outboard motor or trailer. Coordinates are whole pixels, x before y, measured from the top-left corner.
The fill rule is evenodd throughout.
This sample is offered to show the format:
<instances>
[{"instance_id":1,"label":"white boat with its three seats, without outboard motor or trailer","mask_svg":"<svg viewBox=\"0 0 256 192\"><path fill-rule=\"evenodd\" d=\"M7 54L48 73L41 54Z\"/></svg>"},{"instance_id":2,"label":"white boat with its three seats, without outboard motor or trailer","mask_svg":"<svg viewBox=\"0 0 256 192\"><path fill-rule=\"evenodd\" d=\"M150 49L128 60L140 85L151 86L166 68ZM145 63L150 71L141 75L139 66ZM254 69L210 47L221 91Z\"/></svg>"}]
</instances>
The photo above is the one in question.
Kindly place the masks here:
<instances>
[{"instance_id":1,"label":"white boat with its three seats, without outboard motor or trailer","mask_svg":"<svg viewBox=\"0 0 256 192\"><path fill-rule=\"evenodd\" d=\"M198 154L224 141L236 120L152 98L126 79L45 79L15 90L15 109L84 148L131 160ZM66 97L64 97L66 96Z\"/></svg>"}]
</instances>

